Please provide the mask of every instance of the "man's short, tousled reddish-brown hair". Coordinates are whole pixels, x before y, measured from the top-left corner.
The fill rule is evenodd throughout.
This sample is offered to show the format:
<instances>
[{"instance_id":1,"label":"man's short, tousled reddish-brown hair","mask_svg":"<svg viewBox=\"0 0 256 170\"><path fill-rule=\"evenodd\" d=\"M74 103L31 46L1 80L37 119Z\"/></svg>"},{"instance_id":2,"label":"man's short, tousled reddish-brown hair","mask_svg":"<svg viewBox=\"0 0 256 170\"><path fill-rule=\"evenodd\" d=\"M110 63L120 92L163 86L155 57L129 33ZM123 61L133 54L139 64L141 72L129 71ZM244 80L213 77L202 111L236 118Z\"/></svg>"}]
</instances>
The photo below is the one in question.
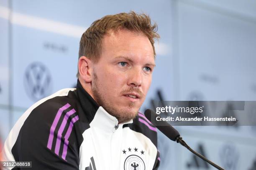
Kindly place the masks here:
<instances>
[{"instance_id":1,"label":"man's short, tousled reddish-brown hair","mask_svg":"<svg viewBox=\"0 0 256 170\"><path fill-rule=\"evenodd\" d=\"M130 13L106 15L100 20L94 21L81 37L79 58L81 56L86 56L97 62L102 52L103 36L108 30L117 31L118 29L127 29L145 34L153 47L154 57L156 56L154 39L160 37L159 34L156 33L156 23L152 25L150 17L144 13L137 14L131 11ZM79 71L77 72L77 77L78 76Z\"/></svg>"}]
</instances>

